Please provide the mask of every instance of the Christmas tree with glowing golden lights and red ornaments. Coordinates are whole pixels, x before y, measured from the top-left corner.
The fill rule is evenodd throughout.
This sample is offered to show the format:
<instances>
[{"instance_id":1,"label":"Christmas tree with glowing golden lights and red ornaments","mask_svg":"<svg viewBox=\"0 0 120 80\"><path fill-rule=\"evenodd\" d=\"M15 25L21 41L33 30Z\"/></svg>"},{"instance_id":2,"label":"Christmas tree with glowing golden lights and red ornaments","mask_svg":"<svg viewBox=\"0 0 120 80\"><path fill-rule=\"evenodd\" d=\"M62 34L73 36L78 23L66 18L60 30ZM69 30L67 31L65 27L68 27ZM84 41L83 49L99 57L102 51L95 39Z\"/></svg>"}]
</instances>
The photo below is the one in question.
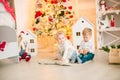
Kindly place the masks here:
<instances>
[{"instance_id":1,"label":"Christmas tree with glowing golden lights and red ornaments","mask_svg":"<svg viewBox=\"0 0 120 80\"><path fill-rule=\"evenodd\" d=\"M36 35L54 36L64 31L71 36L71 27L75 22L70 0L37 0L33 31Z\"/></svg>"}]
</instances>

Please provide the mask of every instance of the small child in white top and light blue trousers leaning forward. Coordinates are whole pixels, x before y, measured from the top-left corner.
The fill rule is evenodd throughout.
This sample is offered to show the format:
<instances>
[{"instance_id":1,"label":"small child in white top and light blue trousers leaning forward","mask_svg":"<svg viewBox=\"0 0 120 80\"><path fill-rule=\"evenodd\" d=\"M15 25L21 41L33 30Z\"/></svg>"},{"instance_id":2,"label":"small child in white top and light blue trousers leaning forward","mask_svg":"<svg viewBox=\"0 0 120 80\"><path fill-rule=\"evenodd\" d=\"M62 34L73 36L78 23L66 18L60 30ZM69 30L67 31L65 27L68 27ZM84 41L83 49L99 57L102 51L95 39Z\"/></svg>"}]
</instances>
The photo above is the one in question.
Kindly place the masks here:
<instances>
[{"instance_id":1,"label":"small child in white top and light blue trousers leaning forward","mask_svg":"<svg viewBox=\"0 0 120 80\"><path fill-rule=\"evenodd\" d=\"M66 38L64 32L60 31L57 33L57 41L58 41L58 60L62 62L72 63L75 62L77 53L72 43Z\"/></svg>"}]
</instances>

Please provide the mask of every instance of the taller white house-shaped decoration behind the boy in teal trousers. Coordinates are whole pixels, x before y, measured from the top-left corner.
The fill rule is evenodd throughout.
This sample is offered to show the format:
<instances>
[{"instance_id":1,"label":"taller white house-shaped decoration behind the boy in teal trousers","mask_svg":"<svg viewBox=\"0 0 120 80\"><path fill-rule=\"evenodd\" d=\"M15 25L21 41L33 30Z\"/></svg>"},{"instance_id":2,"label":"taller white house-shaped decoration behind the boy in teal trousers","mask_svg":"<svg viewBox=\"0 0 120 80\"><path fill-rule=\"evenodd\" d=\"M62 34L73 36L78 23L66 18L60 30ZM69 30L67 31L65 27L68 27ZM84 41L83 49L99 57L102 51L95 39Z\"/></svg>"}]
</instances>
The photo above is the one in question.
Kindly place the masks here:
<instances>
[{"instance_id":1,"label":"taller white house-shaped decoration behind the boy in teal trousers","mask_svg":"<svg viewBox=\"0 0 120 80\"><path fill-rule=\"evenodd\" d=\"M72 26L72 38L73 45L76 49L80 46L80 42L82 41L82 31L85 27L92 29L92 39L94 41L94 26L85 18L81 17L73 26Z\"/></svg>"}]
</instances>

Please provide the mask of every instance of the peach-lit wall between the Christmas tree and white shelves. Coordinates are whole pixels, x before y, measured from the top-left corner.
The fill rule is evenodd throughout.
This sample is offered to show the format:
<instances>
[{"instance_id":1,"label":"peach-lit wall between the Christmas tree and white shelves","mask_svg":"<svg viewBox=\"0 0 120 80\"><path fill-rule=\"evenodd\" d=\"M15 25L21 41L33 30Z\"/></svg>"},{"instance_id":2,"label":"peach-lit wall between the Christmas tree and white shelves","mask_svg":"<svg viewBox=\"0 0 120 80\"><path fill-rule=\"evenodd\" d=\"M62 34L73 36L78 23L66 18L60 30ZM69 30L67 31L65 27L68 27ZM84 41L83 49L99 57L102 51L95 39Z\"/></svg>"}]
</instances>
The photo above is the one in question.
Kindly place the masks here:
<instances>
[{"instance_id":1,"label":"peach-lit wall between the Christmas tree and white shelves","mask_svg":"<svg viewBox=\"0 0 120 80\"><path fill-rule=\"evenodd\" d=\"M97 47L96 35L96 0L70 0L75 10L77 20L82 16L86 17L95 27L95 47Z\"/></svg>"}]
</instances>

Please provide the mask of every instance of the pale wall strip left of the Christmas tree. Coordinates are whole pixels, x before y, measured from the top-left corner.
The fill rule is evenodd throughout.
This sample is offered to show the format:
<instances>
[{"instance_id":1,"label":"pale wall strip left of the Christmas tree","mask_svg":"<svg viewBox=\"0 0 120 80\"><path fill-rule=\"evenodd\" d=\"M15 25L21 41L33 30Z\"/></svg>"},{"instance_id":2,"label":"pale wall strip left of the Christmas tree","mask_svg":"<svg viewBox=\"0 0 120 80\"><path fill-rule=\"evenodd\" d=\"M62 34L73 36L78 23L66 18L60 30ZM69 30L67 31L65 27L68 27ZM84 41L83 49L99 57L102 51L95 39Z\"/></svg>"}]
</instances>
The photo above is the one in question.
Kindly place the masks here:
<instances>
[{"instance_id":1,"label":"pale wall strip left of the Christmas tree","mask_svg":"<svg viewBox=\"0 0 120 80\"><path fill-rule=\"evenodd\" d=\"M36 0L14 0L18 32L27 29L32 24Z\"/></svg>"}]
</instances>

